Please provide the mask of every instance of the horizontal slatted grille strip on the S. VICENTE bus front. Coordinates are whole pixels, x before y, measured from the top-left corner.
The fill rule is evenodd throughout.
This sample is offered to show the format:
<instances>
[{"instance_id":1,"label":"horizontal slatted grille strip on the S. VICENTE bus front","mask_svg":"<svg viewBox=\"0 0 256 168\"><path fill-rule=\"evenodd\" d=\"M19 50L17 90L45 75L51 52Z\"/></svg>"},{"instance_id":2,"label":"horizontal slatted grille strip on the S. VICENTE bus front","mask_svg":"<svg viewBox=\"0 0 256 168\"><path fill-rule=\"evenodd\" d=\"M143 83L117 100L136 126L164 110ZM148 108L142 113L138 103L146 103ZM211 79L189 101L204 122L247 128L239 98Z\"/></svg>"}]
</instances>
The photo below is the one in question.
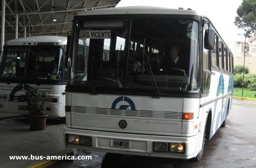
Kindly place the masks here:
<instances>
[{"instance_id":1,"label":"horizontal slatted grille strip on the S. VICENTE bus front","mask_svg":"<svg viewBox=\"0 0 256 168\"><path fill-rule=\"evenodd\" d=\"M169 111L142 111L142 110L119 110L109 108L91 108L71 106L71 113L86 113L90 115L109 115L109 116L131 116L131 117L154 117L168 119L182 119L182 113Z\"/></svg>"}]
</instances>

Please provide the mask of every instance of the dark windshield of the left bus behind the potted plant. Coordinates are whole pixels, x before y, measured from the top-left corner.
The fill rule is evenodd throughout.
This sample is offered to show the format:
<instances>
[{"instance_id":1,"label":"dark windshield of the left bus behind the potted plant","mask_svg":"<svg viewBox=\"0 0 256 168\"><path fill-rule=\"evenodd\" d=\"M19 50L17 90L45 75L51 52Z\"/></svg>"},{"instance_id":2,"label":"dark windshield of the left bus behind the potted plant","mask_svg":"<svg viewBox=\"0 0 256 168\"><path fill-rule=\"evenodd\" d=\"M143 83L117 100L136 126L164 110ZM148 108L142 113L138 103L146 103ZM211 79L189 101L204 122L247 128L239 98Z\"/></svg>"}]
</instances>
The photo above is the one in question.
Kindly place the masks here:
<instances>
[{"instance_id":1,"label":"dark windshield of the left bus behind the potted plant","mask_svg":"<svg viewBox=\"0 0 256 168\"><path fill-rule=\"evenodd\" d=\"M6 46L2 79L61 80L63 49L49 46Z\"/></svg>"}]
</instances>

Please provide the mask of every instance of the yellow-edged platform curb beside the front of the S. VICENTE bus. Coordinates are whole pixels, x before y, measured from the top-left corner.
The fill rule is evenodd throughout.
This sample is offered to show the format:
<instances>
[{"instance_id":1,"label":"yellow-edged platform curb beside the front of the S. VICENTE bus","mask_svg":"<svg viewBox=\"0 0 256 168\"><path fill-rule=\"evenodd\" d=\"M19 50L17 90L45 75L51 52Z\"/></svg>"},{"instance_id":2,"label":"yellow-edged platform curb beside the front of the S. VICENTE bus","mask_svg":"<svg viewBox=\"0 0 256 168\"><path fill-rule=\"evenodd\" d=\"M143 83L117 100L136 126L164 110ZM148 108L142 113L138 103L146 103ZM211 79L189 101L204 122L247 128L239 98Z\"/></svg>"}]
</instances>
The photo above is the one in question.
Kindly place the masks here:
<instances>
[{"instance_id":1,"label":"yellow-edged platform curb beside the front of the S. VICENTE bus","mask_svg":"<svg viewBox=\"0 0 256 168\"><path fill-rule=\"evenodd\" d=\"M71 150L66 150L66 151L63 151L61 153L58 153L58 154L55 154L55 155L52 155L52 156L64 156L64 155L67 155L67 156L72 156L73 155L73 149ZM52 167L53 165L56 165L57 163L59 162L62 162L63 160L47 160L47 159L43 159L41 161L38 161L38 162L35 162L35 163L32 163L30 165L26 165L25 167L23 168L50 168Z\"/></svg>"}]
</instances>

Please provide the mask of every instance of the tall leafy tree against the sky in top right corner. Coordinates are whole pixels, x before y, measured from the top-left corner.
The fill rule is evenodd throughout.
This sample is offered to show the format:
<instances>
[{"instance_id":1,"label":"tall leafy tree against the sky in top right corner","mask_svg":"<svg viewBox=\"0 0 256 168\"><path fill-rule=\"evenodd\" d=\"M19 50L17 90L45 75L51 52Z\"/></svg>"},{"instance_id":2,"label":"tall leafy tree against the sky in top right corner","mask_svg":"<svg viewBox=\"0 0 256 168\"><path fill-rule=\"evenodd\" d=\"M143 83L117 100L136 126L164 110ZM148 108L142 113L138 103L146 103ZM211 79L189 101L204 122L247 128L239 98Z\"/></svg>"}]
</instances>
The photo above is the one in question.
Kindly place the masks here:
<instances>
[{"instance_id":1,"label":"tall leafy tree against the sky in top right corner","mask_svg":"<svg viewBox=\"0 0 256 168\"><path fill-rule=\"evenodd\" d=\"M256 33L256 0L243 0L236 13L234 24L243 28L247 36Z\"/></svg>"}]
</instances>

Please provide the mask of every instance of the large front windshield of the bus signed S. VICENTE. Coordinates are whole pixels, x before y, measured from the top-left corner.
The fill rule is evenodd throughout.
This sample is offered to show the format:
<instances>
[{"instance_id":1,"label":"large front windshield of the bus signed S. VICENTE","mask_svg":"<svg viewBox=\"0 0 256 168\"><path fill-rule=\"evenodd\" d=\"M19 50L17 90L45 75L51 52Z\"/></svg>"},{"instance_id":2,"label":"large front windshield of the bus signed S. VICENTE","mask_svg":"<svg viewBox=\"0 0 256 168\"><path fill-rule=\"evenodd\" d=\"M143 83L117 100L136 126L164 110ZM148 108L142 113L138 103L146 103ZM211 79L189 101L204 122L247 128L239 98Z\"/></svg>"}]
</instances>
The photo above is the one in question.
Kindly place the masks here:
<instances>
[{"instance_id":1,"label":"large front windshield of the bus signed S. VICENTE","mask_svg":"<svg viewBox=\"0 0 256 168\"><path fill-rule=\"evenodd\" d=\"M79 21L78 21L79 22ZM199 88L198 23L177 17L82 20L70 84L88 92L168 95ZM82 64L82 65L81 65Z\"/></svg>"}]
</instances>

